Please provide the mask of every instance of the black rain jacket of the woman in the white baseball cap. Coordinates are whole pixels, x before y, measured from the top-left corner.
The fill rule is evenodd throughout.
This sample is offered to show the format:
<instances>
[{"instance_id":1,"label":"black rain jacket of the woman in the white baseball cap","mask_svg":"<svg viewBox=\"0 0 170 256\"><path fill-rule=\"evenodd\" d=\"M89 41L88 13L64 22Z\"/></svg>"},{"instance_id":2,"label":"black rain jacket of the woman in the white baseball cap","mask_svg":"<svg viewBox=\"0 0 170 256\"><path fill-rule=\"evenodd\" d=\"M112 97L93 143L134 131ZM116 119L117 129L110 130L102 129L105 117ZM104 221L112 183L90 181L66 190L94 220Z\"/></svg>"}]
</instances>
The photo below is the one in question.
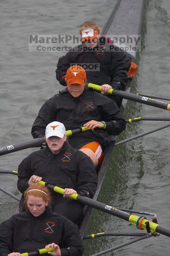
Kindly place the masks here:
<instances>
[{"instance_id":1,"label":"black rain jacket of the woman in the white baseball cap","mask_svg":"<svg viewBox=\"0 0 170 256\"><path fill-rule=\"evenodd\" d=\"M17 185L21 193L29 187L33 174L51 185L75 189L81 196L92 198L97 189L97 174L91 159L68 142L58 154L53 154L46 147L31 153L20 163ZM57 195L55 192L52 194Z\"/></svg>"}]
</instances>

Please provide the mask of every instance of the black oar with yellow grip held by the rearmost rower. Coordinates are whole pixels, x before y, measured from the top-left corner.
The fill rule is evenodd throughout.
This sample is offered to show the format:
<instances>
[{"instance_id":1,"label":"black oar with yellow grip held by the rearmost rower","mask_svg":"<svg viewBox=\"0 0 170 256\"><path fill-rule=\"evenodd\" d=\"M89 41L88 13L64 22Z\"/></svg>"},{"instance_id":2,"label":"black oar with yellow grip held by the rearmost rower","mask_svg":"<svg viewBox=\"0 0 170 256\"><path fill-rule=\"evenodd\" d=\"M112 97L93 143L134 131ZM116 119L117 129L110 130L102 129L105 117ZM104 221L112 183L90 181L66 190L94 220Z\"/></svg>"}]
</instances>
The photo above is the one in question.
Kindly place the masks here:
<instances>
[{"instance_id":1,"label":"black oar with yellow grip held by the rearmost rower","mask_svg":"<svg viewBox=\"0 0 170 256\"><path fill-rule=\"evenodd\" d=\"M101 91L101 86L99 86L97 84L88 83L88 87L91 87L91 88L93 88L97 91ZM154 106L154 107L157 107L157 108L170 110L170 103L159 101L157 99L142 97L140 95L136 95L136 94L133 94L133 93L127 93L126 91L118 91L118 90L113 90L113 89L109 89L107 91L107 93L115 95L115 96L120 97L120 98L129 99L131 101L136 101L136 102L140 102L140 103L150 105L150 106Z\"/></svg>"}]
</instances>

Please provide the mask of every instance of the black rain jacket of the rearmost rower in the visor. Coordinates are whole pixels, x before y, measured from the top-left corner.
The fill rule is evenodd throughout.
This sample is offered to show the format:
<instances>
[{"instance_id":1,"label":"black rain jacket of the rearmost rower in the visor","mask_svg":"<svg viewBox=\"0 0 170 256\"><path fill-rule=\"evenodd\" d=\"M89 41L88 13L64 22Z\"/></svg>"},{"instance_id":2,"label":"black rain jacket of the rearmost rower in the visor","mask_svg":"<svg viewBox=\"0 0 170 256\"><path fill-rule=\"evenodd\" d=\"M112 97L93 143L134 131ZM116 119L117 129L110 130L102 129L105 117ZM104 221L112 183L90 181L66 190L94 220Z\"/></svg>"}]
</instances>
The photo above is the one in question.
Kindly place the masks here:
<instances>
[{"instance_id":1,"label":"black rain jacket of the rearmost rower in the visor","mask_svg":"<svg viewBox=\"0 0 170 256\"><path fill-rule=\"evenodd\" d=\"M83 43L75 46L65 56L62 56L57 63L56 78L61 85L66 86L62 76L66 75L67 69L74 64L99 64L98 66L86 70L87 82L94 84L110 84L113 89L125 89L127 81L127 71L131 66L131 58L123 51L116 50L113 45L105 42L101 37L97 46L93 49L87 48Z\"/></svg>"}]
</instances>

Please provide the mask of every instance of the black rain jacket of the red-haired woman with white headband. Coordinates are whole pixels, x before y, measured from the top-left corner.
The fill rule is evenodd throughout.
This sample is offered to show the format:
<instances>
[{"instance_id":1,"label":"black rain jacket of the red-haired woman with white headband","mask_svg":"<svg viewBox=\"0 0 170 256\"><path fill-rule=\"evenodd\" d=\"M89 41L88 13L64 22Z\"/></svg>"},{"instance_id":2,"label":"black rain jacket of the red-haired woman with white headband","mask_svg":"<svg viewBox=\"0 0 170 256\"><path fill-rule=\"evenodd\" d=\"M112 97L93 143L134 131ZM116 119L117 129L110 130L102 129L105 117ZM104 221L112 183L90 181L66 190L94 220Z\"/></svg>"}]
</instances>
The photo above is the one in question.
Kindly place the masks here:
<instances>
[{"instance_id":1,"label":"black rain jacket of the red-haired woman with white headband","mask_svg":"<svg viewBox=\"0 0 170 256\"><path fill-rule=\"evenodd\" d=\"M0 256L11 252L33 252L52 242L60 246L62 256L81 256L83 253L78 226L49 207L38 217L27 209L0 225Z\"/></svg>"}]
</instances>

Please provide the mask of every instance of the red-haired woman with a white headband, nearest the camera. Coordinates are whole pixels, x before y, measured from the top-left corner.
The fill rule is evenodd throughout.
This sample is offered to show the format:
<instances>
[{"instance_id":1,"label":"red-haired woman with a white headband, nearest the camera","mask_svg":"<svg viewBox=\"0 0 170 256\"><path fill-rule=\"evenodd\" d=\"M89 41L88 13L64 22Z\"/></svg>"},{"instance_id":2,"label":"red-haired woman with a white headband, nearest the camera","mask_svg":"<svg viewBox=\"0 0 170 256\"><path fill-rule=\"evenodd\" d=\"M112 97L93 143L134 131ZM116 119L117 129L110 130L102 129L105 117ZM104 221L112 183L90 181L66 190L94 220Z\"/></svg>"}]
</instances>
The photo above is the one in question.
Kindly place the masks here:
<instances>
[{"instance_id":1,"label":"red-haired woman with a white headband, nearest the camera","mask_svg":"<svg viewBox=\"0 0 170 256\"><path fill-rule=\"evenodd\" d=\"M20 253L50 246L55 248L50 252L53 256L82 255L78 227L52 212L49 207L51 197L46 187L31 185L25 191L24 199L26 211L13 215L0 225L1 256L20 256Z\"/></svg>"}]
</instances>

